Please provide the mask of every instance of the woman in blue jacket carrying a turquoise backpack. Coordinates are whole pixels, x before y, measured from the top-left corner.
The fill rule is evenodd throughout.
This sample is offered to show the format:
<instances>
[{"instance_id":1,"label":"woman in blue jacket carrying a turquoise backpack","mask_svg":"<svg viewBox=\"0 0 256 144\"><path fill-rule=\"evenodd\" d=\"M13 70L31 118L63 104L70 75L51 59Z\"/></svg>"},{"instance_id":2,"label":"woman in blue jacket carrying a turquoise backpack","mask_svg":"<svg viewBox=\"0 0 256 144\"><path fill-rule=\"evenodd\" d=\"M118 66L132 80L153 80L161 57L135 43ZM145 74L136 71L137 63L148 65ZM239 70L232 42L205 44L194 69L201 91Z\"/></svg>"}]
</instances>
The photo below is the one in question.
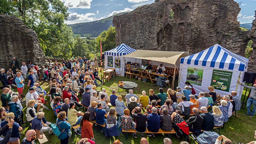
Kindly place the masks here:
<instances>
[{"instance_id":1,"label":"woman in blue jacket carrying a turquoise backpack","mask_svg":"<svg viewBox=\"0 0 256 144\"><path fill-rule=\"evenodd\" d=\"M58 136L58 139L61 140L61 144L69 143L69 134L70 134L71 125L66 119L67 119L67 117L66 117L65 111L58 113L57 119L56 119L56 124L59 127L61 132L64 130L64 132L62 132Z\"/></svg>"}]
</instances>

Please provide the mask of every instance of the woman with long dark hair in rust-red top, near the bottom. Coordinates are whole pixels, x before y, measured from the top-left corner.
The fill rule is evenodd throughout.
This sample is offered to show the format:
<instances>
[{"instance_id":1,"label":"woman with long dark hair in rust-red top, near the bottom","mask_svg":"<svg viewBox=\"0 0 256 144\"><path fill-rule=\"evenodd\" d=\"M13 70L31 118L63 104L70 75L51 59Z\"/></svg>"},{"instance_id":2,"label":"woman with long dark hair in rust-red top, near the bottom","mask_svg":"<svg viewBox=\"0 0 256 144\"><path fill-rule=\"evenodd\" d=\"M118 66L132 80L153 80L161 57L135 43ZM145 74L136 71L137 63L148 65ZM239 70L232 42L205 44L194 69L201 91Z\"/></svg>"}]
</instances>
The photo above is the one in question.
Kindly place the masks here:
<instances>
[{"instance_id":1,"label":"woman with long dark hair in rust-red top, near the bottom","mask_svg":"<svg viewBox=\"0 0 256 144\"><path fill-rule=\"evenodd\" d=\"M81 119L81 139L87 138L90 140L94 140L93 135L93 124L89 120L90 112L85 112L83 118Z\"/></svg>"}]
</instances>

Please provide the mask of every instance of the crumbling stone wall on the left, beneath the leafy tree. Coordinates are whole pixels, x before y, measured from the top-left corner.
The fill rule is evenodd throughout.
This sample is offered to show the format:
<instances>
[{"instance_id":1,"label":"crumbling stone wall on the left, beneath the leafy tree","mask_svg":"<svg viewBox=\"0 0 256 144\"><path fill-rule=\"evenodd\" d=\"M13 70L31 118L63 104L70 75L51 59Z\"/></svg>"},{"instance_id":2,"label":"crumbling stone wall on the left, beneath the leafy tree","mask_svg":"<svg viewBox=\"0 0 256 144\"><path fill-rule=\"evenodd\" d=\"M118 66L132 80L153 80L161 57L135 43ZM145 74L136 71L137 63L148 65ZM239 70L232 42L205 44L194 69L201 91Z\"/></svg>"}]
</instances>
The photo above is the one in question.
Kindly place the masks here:
<instances>
[{"instance_id":1,"label":"crumbling stone wall on the left, beneath the leafy tree","mask_svg":"<svg viewBox=\"0 0 256 144\"><path fill-rule=\"evenodd\" d=\"M0 67L5 71L11 67L13 57L20 66L29 61L37 62L39 66L45 63L36 32L14 16L0 15L0 50Z\"/></svg>"}]
</instances>

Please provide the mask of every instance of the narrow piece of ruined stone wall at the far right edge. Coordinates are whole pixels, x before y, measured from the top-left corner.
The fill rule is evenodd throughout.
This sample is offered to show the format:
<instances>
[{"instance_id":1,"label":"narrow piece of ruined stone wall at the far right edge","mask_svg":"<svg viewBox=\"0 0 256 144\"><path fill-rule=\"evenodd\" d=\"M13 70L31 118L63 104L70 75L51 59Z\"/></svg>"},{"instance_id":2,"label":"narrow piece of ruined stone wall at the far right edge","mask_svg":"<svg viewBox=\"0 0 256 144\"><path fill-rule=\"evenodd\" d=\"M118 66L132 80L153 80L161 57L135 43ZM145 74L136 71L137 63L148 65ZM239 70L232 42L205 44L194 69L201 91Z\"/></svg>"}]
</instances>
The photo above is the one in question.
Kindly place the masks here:
<instances>
[{"instance_id":1,"label":"narrow piece of ruined stone wall at the far right edge","mask_svg":"<svg viewBox=\"0 0 256 144\"><path fill-rule=\"evenodd\" d=\"M248 34L249 38L252 39L252 55L250 56L249 66L250 71L256 72L256 11L255 12L255 19L252 22L252 28Z\"/></svg>"}]
</instances>

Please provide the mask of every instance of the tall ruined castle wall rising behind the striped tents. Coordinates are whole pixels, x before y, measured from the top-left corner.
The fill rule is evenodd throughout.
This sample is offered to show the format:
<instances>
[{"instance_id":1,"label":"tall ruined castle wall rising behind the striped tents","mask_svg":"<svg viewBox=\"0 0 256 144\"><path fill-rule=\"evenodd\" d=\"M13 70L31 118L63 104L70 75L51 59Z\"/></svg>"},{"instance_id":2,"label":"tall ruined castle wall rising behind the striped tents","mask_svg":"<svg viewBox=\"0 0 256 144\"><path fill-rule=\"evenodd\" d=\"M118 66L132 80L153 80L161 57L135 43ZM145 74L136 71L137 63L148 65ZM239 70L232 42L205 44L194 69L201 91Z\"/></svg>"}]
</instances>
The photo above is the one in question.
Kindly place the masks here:
<instances>
[{"instance_id":1,"label":"tall ruined castle wall rising behind the striped tents","mask_svg":"<svg viewBox=\"0 0 256 144\"><path fill-rule=\"evenodd\" d=\"M170 10L173 20L169 19ZM125 43L133 48L158 51L200 52L220 44L231 52L244 56L250 39L256 49L254 34L239 28L239 5L234 0L157 0L113 18L116 44ZM250 71L256 51L250 59Z\"/></svg>"}]
</instances>

